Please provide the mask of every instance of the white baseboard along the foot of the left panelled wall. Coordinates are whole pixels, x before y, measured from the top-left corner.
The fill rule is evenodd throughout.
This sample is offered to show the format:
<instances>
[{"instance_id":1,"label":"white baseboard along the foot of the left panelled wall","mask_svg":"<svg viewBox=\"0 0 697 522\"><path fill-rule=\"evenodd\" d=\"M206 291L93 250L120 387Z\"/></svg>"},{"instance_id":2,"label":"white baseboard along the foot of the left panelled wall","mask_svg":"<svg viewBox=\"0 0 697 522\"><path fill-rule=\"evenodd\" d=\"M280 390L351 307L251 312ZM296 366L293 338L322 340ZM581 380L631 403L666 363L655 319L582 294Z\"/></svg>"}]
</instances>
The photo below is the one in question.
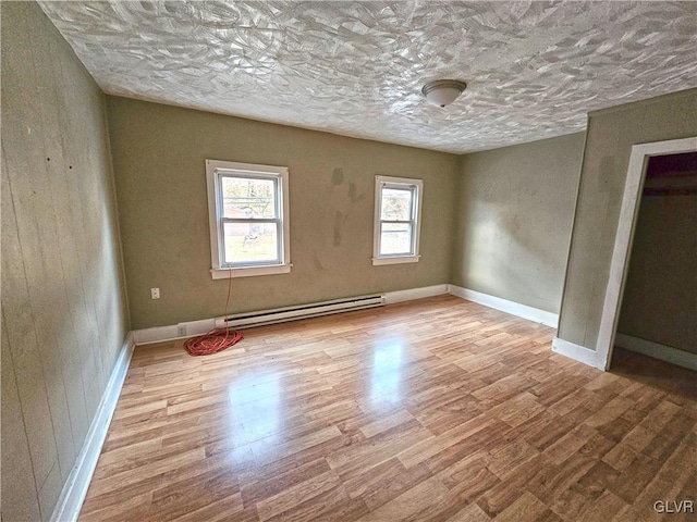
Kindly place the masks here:
<instances>
[{"instance_id":1,"label":"white baseboard along the foot of the left panelled wall","mask_svg":"<svg viewBox=\"0 0 697 522\"><path fill-rule=\"evenodd\" d=\"M111 376L101 396L97 413L87 432L85 444L75 460L75 465L68 481L65 481L61 496L53 509L51 522L73 522L77 520L87 495L91 475L95 472L95 468L97 468L101 447L107 438L107 431L121 395L121 388L129 371L134 347L135 340L133 335L129 333L117 358L117 363L111 371Z\"/></svg>"}]
</instances>

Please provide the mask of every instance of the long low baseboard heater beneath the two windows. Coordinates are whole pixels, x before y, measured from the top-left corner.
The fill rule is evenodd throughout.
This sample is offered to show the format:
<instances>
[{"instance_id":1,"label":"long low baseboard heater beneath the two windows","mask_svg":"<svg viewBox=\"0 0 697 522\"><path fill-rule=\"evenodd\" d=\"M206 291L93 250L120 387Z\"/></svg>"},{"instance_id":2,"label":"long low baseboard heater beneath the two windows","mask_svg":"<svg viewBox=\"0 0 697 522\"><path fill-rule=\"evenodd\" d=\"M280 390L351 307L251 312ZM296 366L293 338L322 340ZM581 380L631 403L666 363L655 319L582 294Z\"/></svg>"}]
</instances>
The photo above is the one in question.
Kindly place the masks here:
<instances>
[{"instance_id":1,"label":"long low baseboard heater beneath the two windows","mask_svg":"<svg viewBox=\"0 0 697 522\"><path fill-rule=\"evenodd\" d=\"M265 324L283 323L298 319L317 318L331 313L347 312L351 310L363 310L365 308L381 307L384 304L384 296L375 294L372 296L350 297L345 299L334 299L332 301L311 302L308 304L297 304L294 307L276 308L260 312L237 313L227 318L216 318L216 327L240 328L245 326L262 326Z\"/></svg>"}]
</instances>

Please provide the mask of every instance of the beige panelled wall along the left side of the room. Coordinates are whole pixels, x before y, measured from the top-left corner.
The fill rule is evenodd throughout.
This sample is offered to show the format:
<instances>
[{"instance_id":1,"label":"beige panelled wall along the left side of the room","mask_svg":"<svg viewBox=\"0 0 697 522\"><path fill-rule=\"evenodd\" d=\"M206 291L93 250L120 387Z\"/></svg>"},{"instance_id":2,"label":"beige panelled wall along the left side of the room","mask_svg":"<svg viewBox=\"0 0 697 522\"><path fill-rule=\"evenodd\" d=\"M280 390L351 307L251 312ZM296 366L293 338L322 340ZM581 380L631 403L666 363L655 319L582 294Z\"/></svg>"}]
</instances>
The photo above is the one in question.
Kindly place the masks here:
<instances>
[{"instance_id":1,"label":"beige panelled wall along the left side of the room","mask_svg":"<svg viewBox=\"0 0 697 522\"><path fill-rule=\"evenodd\" d=\"M127 331L101 91L2 2L2 520L48 520Z\"/></svg>"}]
</instances>

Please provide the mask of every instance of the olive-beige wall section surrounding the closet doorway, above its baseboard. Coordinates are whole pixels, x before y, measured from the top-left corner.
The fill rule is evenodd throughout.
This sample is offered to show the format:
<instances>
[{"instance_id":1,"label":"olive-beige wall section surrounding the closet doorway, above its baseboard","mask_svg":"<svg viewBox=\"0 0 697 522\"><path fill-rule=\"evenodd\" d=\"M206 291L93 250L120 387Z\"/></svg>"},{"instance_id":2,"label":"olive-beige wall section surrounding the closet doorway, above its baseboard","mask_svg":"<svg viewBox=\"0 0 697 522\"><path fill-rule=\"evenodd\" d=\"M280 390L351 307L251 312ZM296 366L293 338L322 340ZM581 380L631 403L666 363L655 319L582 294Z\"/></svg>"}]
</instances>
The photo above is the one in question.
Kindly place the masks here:
<instances>
[{"instance_id":1,"label":"olive-beige wall section surrounding the closet doorway, above its baseboard","mask_svg":"<svg viewBox=\"0 0 697 522\"><path fill-rule=\"evenodd\" d=\"M596 349L632 146L697 136L697 89L590 113L558 336Z\"/></svg>"}]
</instances>

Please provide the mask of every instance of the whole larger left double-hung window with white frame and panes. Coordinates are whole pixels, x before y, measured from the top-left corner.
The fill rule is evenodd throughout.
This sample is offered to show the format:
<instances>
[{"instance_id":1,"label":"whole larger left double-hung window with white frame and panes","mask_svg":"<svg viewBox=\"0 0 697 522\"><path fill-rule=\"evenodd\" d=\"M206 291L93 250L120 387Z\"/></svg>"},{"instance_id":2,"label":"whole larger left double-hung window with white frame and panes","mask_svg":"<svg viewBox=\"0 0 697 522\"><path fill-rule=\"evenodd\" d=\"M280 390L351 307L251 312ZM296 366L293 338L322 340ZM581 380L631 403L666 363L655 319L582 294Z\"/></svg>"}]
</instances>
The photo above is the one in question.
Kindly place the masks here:
<instances>
[{"instance_id":1,"label":"whole larger left double-hung window with white frame and panes","mask_svg":"<svg viewBox=\"0 0 697 522\"><path fill-rule=\"evenodd\" d=\"M289 273L288 169L206 160L206 175L213 279Z\"/></svg>"}]
</instances>

